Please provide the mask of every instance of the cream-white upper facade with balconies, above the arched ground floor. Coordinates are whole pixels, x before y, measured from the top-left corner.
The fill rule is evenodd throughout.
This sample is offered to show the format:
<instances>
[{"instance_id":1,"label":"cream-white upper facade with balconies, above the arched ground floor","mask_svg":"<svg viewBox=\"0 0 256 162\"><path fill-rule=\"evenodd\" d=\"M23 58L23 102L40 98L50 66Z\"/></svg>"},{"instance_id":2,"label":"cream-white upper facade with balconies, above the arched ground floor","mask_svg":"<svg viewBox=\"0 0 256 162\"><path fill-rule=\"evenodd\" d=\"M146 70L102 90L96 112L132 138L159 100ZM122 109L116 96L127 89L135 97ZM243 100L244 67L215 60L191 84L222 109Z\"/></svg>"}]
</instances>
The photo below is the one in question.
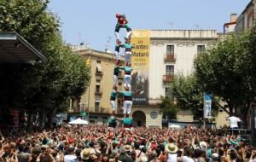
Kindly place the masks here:
<instances>
[{"instance_id":1,"label":"cream-white upper facade with balconies, above the arched ground floor","mask_svg":"<svg viewBox=\"0 0 256 162\"><path fill-rule=\"evenodd\" d=\"M149 52L149 100L168 93L174 75L189 75L197 55L218 40L215 30L152 30Z\"/></svg>"}]
</instances>

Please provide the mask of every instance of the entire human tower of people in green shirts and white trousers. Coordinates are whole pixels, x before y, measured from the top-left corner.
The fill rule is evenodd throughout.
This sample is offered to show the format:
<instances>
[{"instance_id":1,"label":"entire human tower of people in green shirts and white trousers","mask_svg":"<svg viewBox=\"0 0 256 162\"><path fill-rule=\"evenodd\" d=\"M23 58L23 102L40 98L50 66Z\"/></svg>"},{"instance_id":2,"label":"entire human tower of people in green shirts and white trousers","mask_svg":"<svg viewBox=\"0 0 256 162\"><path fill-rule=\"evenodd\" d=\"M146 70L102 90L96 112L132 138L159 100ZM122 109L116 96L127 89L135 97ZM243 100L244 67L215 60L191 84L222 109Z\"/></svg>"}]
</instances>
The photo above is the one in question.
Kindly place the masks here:
<instances>
[{"instance_id":1,"label":"entire human tower of people in green shirts and white trousers","mask_svg":"<svg viewBox=\"0 0 256 162\"><path fill-rule=\"evenodd\" d=\"M129 130L131 129L132 119L131 119L131 106L132 106L132 95L131 92L131 49L133 45L131 44L131 27L128 24L125 14L116 14L117 24L115 26L114 34L116 37L115 45L115 55L116 55L116 66L113 69L113 90L110 96L110 105L112 107L111 117L109 119L108 126L115 128L117 125L117 120L124 124L124 127ZM125 28L127 33L125 35L125 43L122 43L119 38L120 28ZM125 49L125 66L121 65L120 61L120 48ZM124 90L118 90L118 78L119 72L124 71ZM124 118L119 119L116 117L117 104L116 100L121 97L123 100L123 114Z\"/></svg>"}]
</instances>

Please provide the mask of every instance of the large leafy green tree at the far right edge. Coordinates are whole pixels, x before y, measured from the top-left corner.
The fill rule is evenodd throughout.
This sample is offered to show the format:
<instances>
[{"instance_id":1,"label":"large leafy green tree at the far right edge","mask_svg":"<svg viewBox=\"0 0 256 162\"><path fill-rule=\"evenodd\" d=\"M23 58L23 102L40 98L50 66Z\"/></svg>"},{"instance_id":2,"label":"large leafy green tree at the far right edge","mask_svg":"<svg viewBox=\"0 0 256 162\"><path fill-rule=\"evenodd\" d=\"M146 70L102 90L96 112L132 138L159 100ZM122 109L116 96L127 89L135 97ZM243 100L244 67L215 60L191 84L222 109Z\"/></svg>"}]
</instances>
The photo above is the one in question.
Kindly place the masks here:
<instances>
[{"instance_id":1,"label":"large leafy green tree at the far right edge","mask_svg":"<svg viewBox=\"0 0 256 162\"><path fill-rule=\"evenodd\" d=\"M247 112L255 96L255 26L238 36L224 38L195 61L195 76L205 90L227 103L230 112ZM243 113L246 115L246 113ZM243 117L245 120L245 116ZM246 120L245 120L246 121Z\"/></svg>"}]
</instances>

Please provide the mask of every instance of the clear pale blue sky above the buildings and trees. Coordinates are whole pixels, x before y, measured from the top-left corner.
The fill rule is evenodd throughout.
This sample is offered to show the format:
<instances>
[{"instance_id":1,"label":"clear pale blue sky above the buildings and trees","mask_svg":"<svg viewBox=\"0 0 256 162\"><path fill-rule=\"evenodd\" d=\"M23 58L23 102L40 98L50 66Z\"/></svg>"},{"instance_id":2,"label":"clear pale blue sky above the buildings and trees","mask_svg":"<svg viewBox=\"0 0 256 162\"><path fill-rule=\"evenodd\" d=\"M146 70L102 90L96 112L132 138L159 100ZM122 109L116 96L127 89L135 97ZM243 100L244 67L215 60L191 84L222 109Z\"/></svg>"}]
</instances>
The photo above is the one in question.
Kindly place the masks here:
<instances>
[{"instance_id":1,"label":"clear pale blue sky above the buildings and trees","mask_svg":"<svg viewBox=\"0 0 256 162\"><path fill-rule=\"evenodd\" d=\"M126 14L133 29L216 29L241 14L249 0L51 0L67 43L114 49L115 14ZM121 35L124 34L122 31ZM108 37L111 38L108 44Z\"/></svg>"}]
</instances>

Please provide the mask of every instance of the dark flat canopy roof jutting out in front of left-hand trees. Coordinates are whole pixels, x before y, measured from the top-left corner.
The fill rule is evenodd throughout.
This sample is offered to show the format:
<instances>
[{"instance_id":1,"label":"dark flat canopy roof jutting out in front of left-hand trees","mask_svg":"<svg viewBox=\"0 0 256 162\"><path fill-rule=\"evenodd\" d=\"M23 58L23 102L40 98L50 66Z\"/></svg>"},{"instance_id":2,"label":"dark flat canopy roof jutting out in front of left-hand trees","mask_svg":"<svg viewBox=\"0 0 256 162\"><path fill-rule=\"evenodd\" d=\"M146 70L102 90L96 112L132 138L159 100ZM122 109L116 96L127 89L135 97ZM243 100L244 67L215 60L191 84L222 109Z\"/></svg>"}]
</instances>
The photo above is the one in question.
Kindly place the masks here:
<instances>
[{"instance_id":1,"label":"dark flat canopy roof jutting out in front of left-hand trees","mask_svg":"<svg viewBox=\"0 0 256 162\"><path fill-rule=\"evenodd\" d=\"M44 55L40 54L32 44L28 43L18 33L0 32L0 63L32 63L44 60Z\"/></svg>"}]
</instances>

